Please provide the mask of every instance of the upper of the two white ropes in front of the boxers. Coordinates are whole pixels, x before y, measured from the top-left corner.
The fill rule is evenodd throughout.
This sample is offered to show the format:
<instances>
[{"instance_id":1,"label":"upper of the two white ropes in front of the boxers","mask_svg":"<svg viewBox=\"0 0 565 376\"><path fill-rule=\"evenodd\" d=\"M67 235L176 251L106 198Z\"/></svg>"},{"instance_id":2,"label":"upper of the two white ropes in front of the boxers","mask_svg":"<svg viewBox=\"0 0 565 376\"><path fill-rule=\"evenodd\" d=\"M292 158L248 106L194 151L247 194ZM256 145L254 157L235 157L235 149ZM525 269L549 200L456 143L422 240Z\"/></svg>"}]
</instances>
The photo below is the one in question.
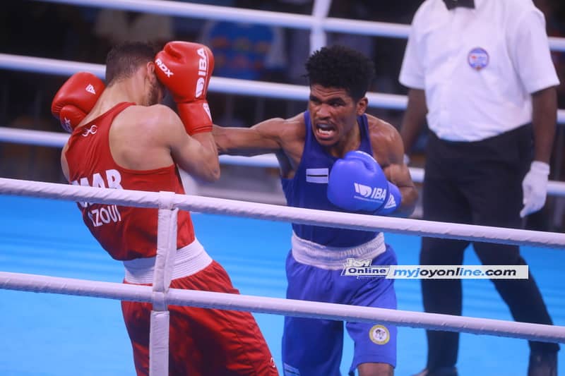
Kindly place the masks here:
<instances>
[{"instance_id":1,"label":"upper of the two white ropes in front of the boxers","mask_svg":"<svg viewBox=\"0 0 565 376\"><path fill-rule=\"evenodd\" d=\"M5 195L30 195L39 198L100 202L134 207L160 207L162 195L170 193L145 192L143 190L117 190L71 186L59 183L44 183L0 178L0 193ZM330 212L326 210L302 209L283 205L258 204L208 198L196 195L172 195L172 207L182 210L211 214L228 214L237 217L267 219L277 222L294 222L340 229L386 231L396 234L434 236L463 239L466 241L489 241L492 243L533 245L546 248L565 248L565 234L545 231L504 229L501 227L452 224L381 217L376 215Z\"/></svg>"}]
</instances>

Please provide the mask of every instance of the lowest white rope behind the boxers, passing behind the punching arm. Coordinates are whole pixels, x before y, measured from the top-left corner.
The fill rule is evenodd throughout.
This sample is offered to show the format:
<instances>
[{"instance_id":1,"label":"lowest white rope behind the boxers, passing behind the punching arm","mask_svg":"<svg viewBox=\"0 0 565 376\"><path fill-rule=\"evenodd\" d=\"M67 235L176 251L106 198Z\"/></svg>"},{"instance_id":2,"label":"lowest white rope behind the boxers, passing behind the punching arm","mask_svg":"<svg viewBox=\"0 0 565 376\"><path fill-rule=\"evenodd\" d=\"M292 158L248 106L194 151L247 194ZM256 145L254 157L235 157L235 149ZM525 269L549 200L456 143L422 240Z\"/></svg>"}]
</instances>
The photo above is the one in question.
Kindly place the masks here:
<instances>
[{"instance_id":1,"label":"lowest white rope behind the boxers, passing behind the punching arm","mask_svg":"<svg viewBox=\"0 0 565 376\"><path fill-rule=\"evenodd\" d=\"M40 145L49 147L63 147L69 135L66 133L33 131L30 129L16 129L0 127L0 141L21 143L25 145ZM275 154L256 155L255 157L241 157L237 155L220 155L220 163L237 166L268 167L278 169L278 160ZM410 167L410 175L415 183L424 181L424 169ZM549 181L547 195L565 197L565 182Z\"/></svg>"}]
</instances>

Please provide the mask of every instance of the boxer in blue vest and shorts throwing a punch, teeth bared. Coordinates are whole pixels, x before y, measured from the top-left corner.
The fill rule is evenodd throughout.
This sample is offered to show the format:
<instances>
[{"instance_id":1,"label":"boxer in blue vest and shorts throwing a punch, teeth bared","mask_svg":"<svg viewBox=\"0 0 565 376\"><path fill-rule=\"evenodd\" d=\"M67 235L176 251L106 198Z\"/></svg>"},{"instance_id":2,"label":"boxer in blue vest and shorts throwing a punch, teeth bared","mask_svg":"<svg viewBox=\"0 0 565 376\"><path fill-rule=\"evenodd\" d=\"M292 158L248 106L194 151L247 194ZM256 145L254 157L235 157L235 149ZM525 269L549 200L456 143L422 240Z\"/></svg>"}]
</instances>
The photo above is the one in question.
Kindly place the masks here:
<instances>
[{"instance_id":1,"label":"boxer in blue vest and shorts throwing a punch, teeth bared","mask_svg":"<svg viewBox=\"0 0 565 376\"><path fill-rule=\"evenodd\" d=\"M306 63L308 110L251 128L214 126L222 154L273 152L287 205L408 216L417 200L396 128L365 114L373 62L347 47L323 47ZM396 308L393 279L342 276L347 258L396 265L382 233L292 224L287 298ZM393 375L396 327L347 322L355 341L350 374ZM287 376L340 375L343 322L285 317Z\"/></svg>"}]
</instances>

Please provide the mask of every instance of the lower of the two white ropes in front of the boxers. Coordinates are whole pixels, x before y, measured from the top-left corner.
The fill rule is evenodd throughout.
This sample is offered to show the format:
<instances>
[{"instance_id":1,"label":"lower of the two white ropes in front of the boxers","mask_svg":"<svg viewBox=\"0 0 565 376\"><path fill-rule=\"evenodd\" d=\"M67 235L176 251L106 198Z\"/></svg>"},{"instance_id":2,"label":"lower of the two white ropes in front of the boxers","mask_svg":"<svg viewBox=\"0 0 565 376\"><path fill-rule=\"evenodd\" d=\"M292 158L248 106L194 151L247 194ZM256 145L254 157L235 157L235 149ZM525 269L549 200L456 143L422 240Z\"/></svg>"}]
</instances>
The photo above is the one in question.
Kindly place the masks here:
<instances>
[{"instance_id":1,"label":"lower of the two white ropes in front of the boxers","mask_svg":"<svg viewBox=\"0 0 565 376\"><path fill-rule=\"evenodd\" d=\"M88 281L36 274L0 272L0 289L59 293L74 296L91 296L124 301L151 303L151 286ZM387 322L402 327L427 328L450 332L489 334L532 341L565 343L565 327L530 324L476 317L419 313L405 310L361 307L355 305L297 301L263 296L235 295L210 291L169 289L167 304L190 305L200 308L245 310L297 317L326 320L350 320L356 322Z\"/></svg>"}]
</instances>

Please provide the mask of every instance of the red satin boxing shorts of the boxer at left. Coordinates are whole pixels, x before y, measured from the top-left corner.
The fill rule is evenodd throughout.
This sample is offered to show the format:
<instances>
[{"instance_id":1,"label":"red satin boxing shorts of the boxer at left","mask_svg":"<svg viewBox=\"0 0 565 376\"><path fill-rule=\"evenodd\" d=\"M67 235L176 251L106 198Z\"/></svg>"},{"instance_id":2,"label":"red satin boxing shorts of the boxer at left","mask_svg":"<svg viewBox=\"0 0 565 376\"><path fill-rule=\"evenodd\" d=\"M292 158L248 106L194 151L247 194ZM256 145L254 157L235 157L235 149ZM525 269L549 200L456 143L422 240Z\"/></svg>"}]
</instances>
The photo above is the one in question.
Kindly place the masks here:
<instances>
[{"instance_id":1,"label":"red satin boxing shorts of the boxer at left","mask_svg":"<svg viewBox=\"0 0 565 376\"><path fill-rule=\"evenodd\" d=\"M173 289L239 293L213 261ZM149 375L150 303L122 301L137 375ZM249 312L169 305L169 375L278 375L263 334Z\"/></svg>"}]
</instances>

